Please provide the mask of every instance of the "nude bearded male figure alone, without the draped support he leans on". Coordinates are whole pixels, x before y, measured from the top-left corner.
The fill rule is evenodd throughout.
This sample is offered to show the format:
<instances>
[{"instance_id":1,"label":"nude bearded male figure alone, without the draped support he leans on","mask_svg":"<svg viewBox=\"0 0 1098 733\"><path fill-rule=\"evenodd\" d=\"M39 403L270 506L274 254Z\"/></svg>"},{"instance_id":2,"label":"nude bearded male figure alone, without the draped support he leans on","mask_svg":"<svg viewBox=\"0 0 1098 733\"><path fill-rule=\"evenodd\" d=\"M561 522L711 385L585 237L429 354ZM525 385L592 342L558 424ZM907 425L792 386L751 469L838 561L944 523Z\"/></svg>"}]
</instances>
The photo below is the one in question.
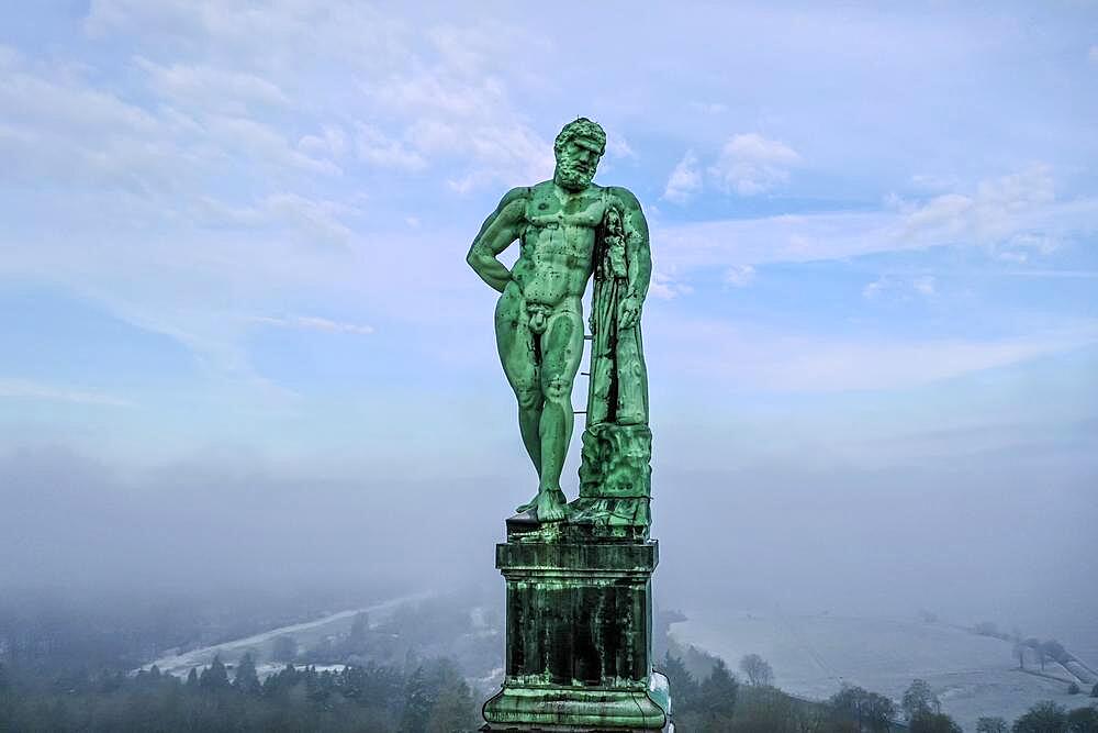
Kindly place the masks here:
<instances>
[{"instance_id":1,"label":"nude bearded male figure alone, without the draped support he leans on","mask_svg":"<svg viewBox=\"0 0 1098 733\"><path fill-rule=\"evenodd\" d=\"M581 118L565 125L553 146L553 179L508 191L467 257L481 279L503 293L495 309L496 345L518 399L523 443L539 477L537 496L518 511L536 509L540 522L565 517L560 474L572 436L572 385L583 356L581 298L607 208L617 209L631 251L641 253L630 263L619 327L639 318L651 276L648 225L636 197L591 182L605 146L606 134L594 122ZM508 270L496 257L516 240L522 248Z\"/></svg>"}]
</instances>

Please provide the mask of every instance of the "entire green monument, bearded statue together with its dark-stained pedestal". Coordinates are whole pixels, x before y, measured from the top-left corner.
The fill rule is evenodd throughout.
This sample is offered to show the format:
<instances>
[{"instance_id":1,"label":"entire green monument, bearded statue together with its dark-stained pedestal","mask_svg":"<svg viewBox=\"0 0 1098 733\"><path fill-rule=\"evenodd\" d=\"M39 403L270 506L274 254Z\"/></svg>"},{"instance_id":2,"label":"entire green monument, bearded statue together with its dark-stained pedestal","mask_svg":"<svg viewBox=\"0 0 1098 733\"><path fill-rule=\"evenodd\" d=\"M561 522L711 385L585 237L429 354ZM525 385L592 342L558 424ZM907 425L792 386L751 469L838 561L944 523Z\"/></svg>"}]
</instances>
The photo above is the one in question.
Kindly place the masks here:
<instances>
[{"instance_id":1,"label":"entire green monument, bearded statue together with its dark-stained pedestal","mask_svg":"<svg viewBox=\"0 0 1098 733\"><path fill-rule=\"evenodd\" d=\"M553 179L509 191L469 249L469 264L502 293L496 344L539 479L496 545L507 644L503 686L483 708L490 733L670 730L666 680L652 669L659 543L648 536L652 433L640 341L652 260L637 198L591 182L605 147L594 122L564 125ZM516 240L508 270L496 257ZM568 503L560 475L585 338L580 496Z\"/></svg>"}]
</instances>

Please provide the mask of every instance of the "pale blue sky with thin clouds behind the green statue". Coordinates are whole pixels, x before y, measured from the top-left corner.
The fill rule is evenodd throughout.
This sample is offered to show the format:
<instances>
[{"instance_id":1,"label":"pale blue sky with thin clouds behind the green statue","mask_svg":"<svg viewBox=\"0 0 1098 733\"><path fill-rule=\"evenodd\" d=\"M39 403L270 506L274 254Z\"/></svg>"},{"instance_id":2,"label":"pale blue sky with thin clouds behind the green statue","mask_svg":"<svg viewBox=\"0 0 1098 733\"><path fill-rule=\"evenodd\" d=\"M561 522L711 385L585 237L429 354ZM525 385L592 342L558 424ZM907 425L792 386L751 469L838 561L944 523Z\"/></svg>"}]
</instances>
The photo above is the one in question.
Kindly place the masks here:
<instances>
[{"instance_id":1,"label":"pale blue sky with thin clouds behind the green statue","mask_svg":"<svg viewBox=\"0 0 1098 733\"><path fill-rule=\"evenodd\" d=\"M741 584L765 602L793 598L768 577L819 577L797 558L821 545L850 549L826 562L877 595L905 573L918 589L983 578L957 613L1033 598L998 573L1019 563L1040 584L1093 578L1084 1L5 5L0 478L31 502L20 536L56 519L65 502L33 497L74 466L143 501L177 474L289 482L287 517L317 486L355 486L332 496L433 513L473 552L467 518L490 543L535 480L495 293L464 255L508 188L551 177L579 115L608 135L595 182L632 190L652 230L669 588L695 592L675 578L713 552L699 531L727 556L800 537ZM247 527L257 501L212 509L212 526ZM109 535L119 518L99 521ZM937 549L889 559L882 543ZM11 577L70 557L19 547Z\"/></svg>"}]
</instances>

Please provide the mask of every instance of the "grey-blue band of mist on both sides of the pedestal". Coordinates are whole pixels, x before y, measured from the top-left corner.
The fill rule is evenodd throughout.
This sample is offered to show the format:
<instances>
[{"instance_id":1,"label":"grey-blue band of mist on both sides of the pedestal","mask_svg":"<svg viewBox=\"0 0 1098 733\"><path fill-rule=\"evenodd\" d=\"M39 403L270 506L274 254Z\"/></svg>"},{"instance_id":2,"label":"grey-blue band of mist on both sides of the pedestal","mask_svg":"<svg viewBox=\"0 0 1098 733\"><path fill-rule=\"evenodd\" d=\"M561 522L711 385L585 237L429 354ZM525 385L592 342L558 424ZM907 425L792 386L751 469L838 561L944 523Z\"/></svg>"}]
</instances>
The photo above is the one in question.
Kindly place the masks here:
<instances>
[{"instance_id":1,"label":"grey-blue band of mist on both sides of the pedestal","mask_svg":"<svg viewBox=\"0 0 1098 733\"><path fill-rule=\"evenodd\" d=\"M1072 640L1094 659L1095 468L1041 458L661 466L658 598L687 614L927 609ZM522 498L498 475L316 479L225 457L123 471L63 448L13 452L0 476L8 587L66 601L493 588L500 514Z\"/></svg>"}]
</instances>

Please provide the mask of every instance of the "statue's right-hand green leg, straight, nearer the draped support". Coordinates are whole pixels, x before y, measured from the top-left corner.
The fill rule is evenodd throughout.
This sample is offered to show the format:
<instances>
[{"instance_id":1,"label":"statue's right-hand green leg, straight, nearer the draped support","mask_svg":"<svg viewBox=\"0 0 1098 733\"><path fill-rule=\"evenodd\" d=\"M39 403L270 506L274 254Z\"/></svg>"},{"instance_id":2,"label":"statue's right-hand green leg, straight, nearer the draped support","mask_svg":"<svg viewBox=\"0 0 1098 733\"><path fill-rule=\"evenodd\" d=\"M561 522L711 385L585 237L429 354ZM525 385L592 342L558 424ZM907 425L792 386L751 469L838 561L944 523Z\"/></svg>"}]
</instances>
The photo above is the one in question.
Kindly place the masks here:
<instances>
[{"instance_id":1,"label":"statue's right-hand green leg, straight, nearer the draped support","mask_svg":"<svg viewBox=\"0 0 1098 733\"><path fill-rule=\"evenodd\" d=\"M538 520L564 518L564 493L560 474L572 440L572 385L583 358L583 321L574 310L561 310L549 319L541 337L541 484L538 486Z\"/></svg>"}]
</instances>

